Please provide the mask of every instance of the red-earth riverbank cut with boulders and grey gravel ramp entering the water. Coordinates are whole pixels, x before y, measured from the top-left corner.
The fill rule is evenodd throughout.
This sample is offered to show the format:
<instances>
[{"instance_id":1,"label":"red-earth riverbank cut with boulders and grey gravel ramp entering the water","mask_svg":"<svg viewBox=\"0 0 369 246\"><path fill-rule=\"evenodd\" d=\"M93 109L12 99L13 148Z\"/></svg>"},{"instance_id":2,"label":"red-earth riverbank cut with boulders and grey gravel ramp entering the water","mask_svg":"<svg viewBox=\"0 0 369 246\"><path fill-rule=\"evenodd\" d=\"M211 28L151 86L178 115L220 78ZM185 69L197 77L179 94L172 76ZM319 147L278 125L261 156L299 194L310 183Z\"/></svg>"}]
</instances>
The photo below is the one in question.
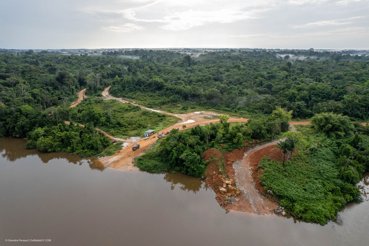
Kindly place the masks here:
<instances>
[{"instance_id":1,"label":"red-earth riverbank cut with boulders and grey gravel ramp entering the water","mask_svg":"<svg viewBox=\"0 0 369 246\"><path fill-rule=\"evenodd\" d=\"M273 213L279 204L275 198L266 197L258 178L258 165L263 157L279 160L283 153L274 147L275 141L246 144L241 150L235 149L230 153L222 154L216 149L205 151L203 160L208 161L205 181L214 190L217 202L226 210ZM221 191L224 177L235 182L238 194L231 195L230 192Z\"/></svg>"}]
</instances>

